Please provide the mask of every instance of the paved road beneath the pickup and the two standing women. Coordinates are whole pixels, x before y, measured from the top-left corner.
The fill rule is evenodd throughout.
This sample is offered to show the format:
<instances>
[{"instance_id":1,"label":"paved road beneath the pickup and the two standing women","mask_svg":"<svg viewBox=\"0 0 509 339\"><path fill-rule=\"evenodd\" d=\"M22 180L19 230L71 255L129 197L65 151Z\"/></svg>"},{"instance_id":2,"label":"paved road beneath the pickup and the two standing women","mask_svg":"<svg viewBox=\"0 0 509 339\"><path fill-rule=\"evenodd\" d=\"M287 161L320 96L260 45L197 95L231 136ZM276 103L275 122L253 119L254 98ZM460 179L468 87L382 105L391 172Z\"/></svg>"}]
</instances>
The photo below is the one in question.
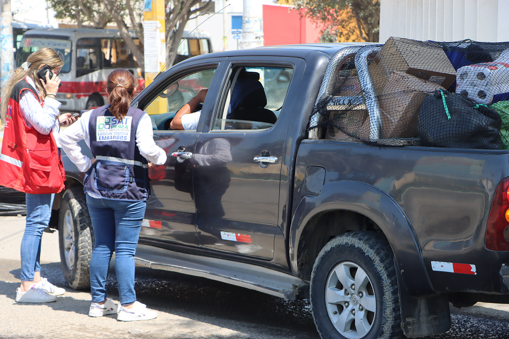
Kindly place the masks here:
<instances>
[{"instance_id":1,"label":"paved road beneath the pickup and the two standing women","mask_svg":"<svg viewBox=\"0 0 509 339\"><path fill-rule=\"evenodd\" d=\"M19 244L24 218L0 217L0 338L319 339L307 300L287 301L228 284L165 271L136 269L138 300L156 310L150 321L87 316L90 293L68 289L48 304L18 304ZM66 287L58 233L43 234L42 275ZM114 270L110 297L118 301ZM478 303L451 307L453 326L428 339L506 339L509 307Z\"/></svg>"}]
</instances>

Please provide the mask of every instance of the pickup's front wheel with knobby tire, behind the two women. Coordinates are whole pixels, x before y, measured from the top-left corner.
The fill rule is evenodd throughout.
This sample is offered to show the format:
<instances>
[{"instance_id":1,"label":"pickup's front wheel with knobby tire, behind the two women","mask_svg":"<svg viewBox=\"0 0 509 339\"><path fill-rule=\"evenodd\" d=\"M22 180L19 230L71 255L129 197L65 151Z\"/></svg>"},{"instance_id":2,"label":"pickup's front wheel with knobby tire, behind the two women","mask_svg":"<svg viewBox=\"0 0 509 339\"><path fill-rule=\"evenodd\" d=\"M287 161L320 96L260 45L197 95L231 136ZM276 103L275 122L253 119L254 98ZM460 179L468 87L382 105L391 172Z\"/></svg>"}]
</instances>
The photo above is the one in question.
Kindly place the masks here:
<instances>
[{"instance_id":1,"label":"pickup's front wheel with knobby tire, behind the two women","mask_svg":"<svg viewBox=\"0 0 509 339\"><path fill-rule=\"evenodd\" d=\"M90 258L94 233L83 189L65 191L59 212L60 262L66 283L73 289L90 288Z\"/></svg>"}]
</instances>

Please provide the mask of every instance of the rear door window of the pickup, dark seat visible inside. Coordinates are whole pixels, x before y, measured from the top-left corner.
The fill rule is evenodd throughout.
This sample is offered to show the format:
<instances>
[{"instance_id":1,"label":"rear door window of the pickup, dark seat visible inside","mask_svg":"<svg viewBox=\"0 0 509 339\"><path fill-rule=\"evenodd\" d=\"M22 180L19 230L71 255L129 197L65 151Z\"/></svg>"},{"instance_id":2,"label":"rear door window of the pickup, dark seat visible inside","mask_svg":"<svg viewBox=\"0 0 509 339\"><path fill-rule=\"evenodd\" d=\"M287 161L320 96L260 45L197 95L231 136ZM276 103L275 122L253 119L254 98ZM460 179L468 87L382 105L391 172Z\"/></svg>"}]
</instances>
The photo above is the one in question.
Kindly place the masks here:
<instances>
[{"instance_id":1,"label":"rear door window of the pickup, dark seat visible inside","mask_svg":"<svg viewBox=\"0 0 509 339\"><path fill-rule=\"evenodd\" d=\"M293 69L239 67L230 79L214 130L260 130L272 127L285 102Z\"/></svg>"}]
</instances>

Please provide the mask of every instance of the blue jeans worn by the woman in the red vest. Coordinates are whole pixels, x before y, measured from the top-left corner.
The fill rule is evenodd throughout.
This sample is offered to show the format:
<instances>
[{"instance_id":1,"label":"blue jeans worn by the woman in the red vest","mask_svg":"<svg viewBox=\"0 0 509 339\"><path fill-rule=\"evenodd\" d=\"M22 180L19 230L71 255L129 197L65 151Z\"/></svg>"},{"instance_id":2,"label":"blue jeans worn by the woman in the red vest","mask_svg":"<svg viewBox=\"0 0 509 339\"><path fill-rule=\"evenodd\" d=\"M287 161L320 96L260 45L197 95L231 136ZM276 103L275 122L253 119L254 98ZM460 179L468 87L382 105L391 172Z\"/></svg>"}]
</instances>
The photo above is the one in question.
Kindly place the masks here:
<instances>
[{"instance_id":1,"label":"blue jeans worn by the woman in the red vest","mask_svg":"<svg viewBox=\"0 0 509 339\"><path fill-rule=\"evenodd\" d=\"M33 281L41 271L42 231L48 227L54 194L25 193L26 226L21 239L21 281Z\"/></svg>"}]
</instances>

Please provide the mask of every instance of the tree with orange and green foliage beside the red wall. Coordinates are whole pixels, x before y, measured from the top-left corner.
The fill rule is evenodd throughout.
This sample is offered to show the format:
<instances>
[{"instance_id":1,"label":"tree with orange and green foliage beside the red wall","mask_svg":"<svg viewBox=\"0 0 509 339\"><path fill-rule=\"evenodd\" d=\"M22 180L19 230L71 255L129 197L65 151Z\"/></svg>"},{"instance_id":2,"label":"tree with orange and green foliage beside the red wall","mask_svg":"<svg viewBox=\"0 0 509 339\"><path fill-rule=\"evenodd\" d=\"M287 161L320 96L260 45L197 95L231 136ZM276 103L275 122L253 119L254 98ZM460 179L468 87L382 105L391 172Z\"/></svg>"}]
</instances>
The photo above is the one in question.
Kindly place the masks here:
<instances>
[{"instance_id":1,"label":"tree with orange and green foliage beside the red wall","mask_svg":"<svg viewBox=\"0 0 509 339\"><path fill-rule=\"evenodd\" d=\"M294 0L302 16L322 28L322 40L378 42L379 0Z\"/></svg>"}]
</instances>

